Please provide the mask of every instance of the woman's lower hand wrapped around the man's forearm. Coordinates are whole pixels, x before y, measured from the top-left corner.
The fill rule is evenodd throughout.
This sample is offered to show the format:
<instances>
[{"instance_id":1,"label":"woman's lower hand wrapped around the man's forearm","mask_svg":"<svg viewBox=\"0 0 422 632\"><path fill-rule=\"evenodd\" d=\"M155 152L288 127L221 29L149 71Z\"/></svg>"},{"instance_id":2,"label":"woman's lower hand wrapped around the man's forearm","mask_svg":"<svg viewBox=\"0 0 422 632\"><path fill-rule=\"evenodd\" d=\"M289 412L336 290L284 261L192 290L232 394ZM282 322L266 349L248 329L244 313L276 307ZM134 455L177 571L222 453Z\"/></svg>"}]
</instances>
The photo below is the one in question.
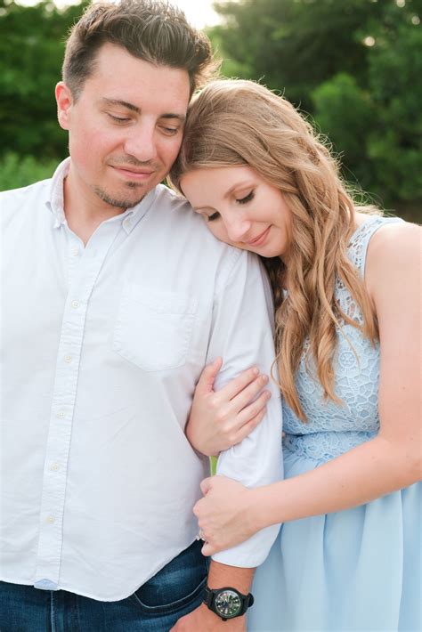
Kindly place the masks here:
<instances>
[{"instance_id":1,"label":"woman's lower hand wrapped around the man's forearm","mask_svg":"<svg viewBox=\"0 0 422 632\"><path fill-rule=\"evenodd\" d=\"M211 476L201 482L204 498L193 507L199 535L205 540L203 555L214 555L250 538L259 527L252 491L225 476Z\"/></svg>"}]
</instances>

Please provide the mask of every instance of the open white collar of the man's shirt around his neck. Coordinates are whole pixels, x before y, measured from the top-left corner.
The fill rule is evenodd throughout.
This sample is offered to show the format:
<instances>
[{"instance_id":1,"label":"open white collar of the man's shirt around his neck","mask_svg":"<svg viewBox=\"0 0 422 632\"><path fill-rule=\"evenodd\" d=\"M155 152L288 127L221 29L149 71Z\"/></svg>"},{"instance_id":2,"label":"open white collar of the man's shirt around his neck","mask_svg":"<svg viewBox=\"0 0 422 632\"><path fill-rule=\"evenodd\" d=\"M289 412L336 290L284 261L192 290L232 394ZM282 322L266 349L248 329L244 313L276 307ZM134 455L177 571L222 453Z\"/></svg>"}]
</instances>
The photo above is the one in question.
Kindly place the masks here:
<instances>
[{"instance_id":1,"label":"open white collar of the man's shirt around his neck","mask_svg":"<svg viewBox=\"0 0 422 632\"><path fill-rule=\"evenodd\" d=\"M49 197L47 199L47 207L53 213L54 223L53 228L60 228L63 223L66 222L66 216L64 215L64 193L63 182L66 176L69 174L70 158L65 158L61 164L57 167L51 180ZM156 198L157 187L150 190L149 193L142 198L141 202L134 207L127 208L125 213L111 217L109 222L121 222L123 229L129 234L134 230L134 227L138 222L142 220L142 217L149 211L152 202Z\"/></svg>"}]
</instances>

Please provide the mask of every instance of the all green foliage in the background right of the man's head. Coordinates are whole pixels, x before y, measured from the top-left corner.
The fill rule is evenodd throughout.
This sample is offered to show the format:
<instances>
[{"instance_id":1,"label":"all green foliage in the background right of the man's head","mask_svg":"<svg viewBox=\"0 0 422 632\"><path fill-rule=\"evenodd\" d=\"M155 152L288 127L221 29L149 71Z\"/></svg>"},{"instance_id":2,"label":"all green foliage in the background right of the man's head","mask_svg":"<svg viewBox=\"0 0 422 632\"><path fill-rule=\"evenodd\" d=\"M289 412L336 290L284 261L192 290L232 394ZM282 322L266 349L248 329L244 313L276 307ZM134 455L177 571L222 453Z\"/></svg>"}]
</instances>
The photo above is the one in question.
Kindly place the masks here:
<instances>
[{"instance_id":1,"label":"all green foliage in the background right of the man's head","mask_svg":"<svg viewBox=\"0 0 422 632\"><path fill-rule=\"evenodd\" d=\"M311 113L353 185L420 221L422 0L220 0L215 9L223 24L209 35L223 73L260 80Z\"/></svg>"}]
</instances>

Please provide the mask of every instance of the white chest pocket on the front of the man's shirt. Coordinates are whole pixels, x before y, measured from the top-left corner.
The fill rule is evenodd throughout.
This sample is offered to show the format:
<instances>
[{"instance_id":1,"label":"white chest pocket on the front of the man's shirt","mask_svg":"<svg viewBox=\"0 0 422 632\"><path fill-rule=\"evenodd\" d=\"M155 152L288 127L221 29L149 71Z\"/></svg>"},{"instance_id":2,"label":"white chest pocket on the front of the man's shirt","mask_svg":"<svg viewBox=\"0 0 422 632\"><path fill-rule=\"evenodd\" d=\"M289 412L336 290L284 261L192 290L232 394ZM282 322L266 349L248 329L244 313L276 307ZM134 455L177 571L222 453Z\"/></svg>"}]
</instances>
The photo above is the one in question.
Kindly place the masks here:
<instances>
[{"instance_id":1,"label":"white chest pocket on the front of the man's shirt","mask_svg":"<svg viewBox=\"0 0 422 632\"><path fill-rule=\"evenodd\" d=\"M126 283L112 348L144 371L182 367L191 345L198 302L179 293Z\"/></svg>"}]
</instances>

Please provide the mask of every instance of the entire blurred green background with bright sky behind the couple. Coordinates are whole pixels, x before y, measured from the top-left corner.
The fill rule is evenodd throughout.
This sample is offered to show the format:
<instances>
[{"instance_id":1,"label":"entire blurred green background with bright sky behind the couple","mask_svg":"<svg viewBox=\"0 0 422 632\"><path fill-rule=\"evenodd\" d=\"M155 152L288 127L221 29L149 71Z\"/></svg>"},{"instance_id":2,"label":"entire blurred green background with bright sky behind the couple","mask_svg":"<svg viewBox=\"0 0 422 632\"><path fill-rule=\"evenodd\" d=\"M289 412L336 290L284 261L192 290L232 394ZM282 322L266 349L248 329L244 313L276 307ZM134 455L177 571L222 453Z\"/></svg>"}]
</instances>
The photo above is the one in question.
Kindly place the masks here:
<instances>
[{"instance_id":1,"label":"entire blurred green background with bright sky behind the couple","mask_svg":"<svg viewBox=\"0 0 422 632\"><path fill-rule=\"evenodd\" d=\"M0 0L0 190L67 155L54 85L85 3ZM422 0L176 0L223 75L260 80L329 137L345 179L422 221Z\"/></svg>"}]
</instances>

